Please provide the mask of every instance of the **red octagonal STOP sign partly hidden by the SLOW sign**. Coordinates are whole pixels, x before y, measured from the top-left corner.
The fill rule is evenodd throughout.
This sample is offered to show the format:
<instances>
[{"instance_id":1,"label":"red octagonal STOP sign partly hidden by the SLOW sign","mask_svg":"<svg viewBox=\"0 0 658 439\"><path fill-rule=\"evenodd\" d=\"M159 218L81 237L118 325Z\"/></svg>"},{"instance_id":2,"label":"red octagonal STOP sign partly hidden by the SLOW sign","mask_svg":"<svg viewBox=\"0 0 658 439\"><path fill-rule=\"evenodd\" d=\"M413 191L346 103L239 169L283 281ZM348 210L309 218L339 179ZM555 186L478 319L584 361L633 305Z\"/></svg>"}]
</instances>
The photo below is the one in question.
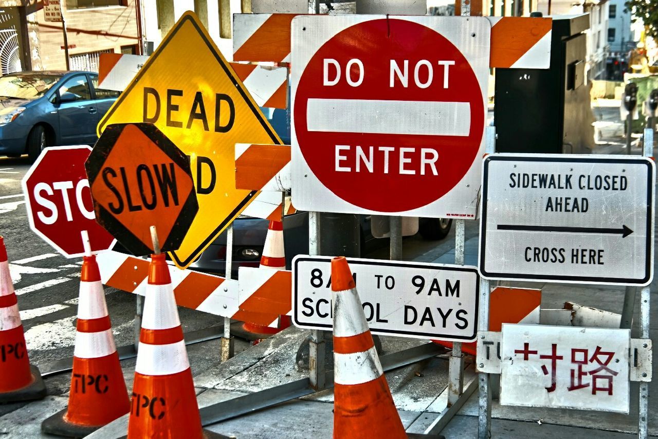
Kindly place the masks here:
<instances>
[{"instance_id":1,"label":"red octagonal STOP sign partly hidden by the SLOW sign","mask_svg":"<svg viewBox=\"0 0 658 439\"><path fill-rule=\"evenodd\" d=\"M84 163L91 147L47 148L23 178L30 227L66 257L84 254L80 232L91 251L107 250L114 238L95 221Z\"/></svg>"}]
</instances>

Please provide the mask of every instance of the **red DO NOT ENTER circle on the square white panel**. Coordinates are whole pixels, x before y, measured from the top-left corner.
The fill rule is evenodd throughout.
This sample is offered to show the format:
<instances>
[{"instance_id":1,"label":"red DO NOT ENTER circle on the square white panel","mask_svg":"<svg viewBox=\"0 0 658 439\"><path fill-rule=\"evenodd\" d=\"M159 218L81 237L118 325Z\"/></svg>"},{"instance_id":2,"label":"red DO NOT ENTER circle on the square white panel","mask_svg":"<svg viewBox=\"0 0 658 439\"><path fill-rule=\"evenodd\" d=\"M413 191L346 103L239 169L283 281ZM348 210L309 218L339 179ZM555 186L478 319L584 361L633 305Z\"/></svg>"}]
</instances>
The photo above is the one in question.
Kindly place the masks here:
<instances>
[{"instance_id":1,"label":"red DO NOT ENTER circle on the square white panel","mask_svg":"<svg viewBox=\"0 0 658 439\"><path fill-rule=\"evenodd\" d=\"M392 73L392 60L399 71ZM315 122L315 113L309 126L309 99L340 100L345 108L356 108L355 115L365 102L368 109L397 117L408 115L410 107L395 101L411 101L411 109L421 112L426 107L415 102L445 103L439 107L459 107L460 116L437 113L436 126L414 128L407 120L402 127L391 124L390 132L355 132L338 121ZM317 102L322 101L310 105ZM324 186L363 209L398 212L432 203L465 176L482 141L484 103L475 73L453 43L421 24L382 18L351 26L318 49L299 78L293 117L301 153ZM377 117L368 116L375 123Z\"/></svg>"}]
</instances>

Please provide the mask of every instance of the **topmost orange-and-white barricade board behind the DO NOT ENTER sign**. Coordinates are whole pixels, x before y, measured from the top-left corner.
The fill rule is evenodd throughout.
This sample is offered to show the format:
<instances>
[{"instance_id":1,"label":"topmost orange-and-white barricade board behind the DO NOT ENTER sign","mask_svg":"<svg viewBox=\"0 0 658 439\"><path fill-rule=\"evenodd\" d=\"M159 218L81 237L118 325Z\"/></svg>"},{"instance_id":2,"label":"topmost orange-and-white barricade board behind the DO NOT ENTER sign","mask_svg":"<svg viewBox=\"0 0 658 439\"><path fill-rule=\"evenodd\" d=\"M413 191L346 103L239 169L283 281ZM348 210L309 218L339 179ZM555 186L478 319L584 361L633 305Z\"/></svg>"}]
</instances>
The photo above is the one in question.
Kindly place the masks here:
<instances>
[{"instance_id":1,"label":"topmost orange-and-white barricade board behind the DO NOT ENTER sign","mask_svg":"<svg viewBox=\"0 0 658 439\"><path fill-rule=\"evenodd\" d=\"M290 62L295 14L234 14L235 61ZM549 68L551 18L487 17L492 23L490 67Z\"/></svg>"}]
</instances>

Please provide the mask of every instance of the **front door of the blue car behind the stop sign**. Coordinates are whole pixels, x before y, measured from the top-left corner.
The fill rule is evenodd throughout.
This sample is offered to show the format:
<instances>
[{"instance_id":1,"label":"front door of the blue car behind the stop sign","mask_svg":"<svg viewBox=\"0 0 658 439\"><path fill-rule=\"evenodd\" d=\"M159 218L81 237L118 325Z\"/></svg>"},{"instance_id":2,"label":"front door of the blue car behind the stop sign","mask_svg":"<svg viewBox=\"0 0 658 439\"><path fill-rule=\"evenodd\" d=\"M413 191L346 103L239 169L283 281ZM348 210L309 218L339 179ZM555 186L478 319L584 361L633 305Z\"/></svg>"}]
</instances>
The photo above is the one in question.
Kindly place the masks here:
<instances>
[{"instance_id":1,"label":"front door of the blue car behind the stop sign","mask_svg":"<svg viewBox=\"0 0 658 439\"><path fill-rule=\"evenodd\" d=\"M73 100L64 102L63 95ZM91 98L91 88L86 74L71 76L59 87L57 115L64 145L92 144L96 141L98 107Z\"/></svg>"}]
</instances>

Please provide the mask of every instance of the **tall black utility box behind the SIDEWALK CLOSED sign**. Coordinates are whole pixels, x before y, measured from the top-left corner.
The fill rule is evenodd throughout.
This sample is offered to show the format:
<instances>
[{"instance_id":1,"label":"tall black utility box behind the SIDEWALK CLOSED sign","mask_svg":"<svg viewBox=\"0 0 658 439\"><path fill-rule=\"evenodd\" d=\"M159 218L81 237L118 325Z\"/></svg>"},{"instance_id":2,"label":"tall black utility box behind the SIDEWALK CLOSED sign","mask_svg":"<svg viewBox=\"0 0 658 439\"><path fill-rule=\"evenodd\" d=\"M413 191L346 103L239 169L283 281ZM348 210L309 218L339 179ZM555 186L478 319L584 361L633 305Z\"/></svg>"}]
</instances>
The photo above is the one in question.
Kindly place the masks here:
<instances>
[{"instance_id":1,"label":"tall black utility box behind the SIDEWALK CLOSED sign","mask_svg":"<svg viewBox=\"0 0 658 439\"><path fill-rule=\"evenodd\" d=\"M585 78L589 14L553 16L547 70L497 68L494 124L501 153L590 153L590 84ZM529 18L532 20L532 18Z\"/></svg>"}]
</instances>

